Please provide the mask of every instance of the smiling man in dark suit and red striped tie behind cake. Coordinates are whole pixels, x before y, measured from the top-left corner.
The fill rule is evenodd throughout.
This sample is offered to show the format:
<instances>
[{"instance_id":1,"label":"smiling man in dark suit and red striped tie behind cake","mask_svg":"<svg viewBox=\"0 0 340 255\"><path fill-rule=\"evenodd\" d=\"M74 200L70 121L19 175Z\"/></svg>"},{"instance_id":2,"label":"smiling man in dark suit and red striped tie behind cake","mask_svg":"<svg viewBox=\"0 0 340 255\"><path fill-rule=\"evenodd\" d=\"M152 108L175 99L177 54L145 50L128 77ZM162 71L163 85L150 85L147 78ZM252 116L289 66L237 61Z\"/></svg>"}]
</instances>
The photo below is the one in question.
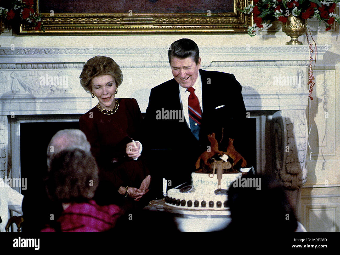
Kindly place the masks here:
<instances>
[{"instance_id":1,"label":"smiling man in dark suit and red striped tie behind cake","mask_svg":"<svg viewBox=\"0 0 340 255\"><path fill-rule=\"evenodd\" d=\"M234 138L235 149L244 158L248 153L243 146L246 110L235 76L200 69L199 49L190 39L173 42L168 56L174 78L151 89L144 143L151 149L153 178L171 180L171 188L190 183L212 132L220 150L226 151L229 138Z\"/></svg>"}]
</instances>

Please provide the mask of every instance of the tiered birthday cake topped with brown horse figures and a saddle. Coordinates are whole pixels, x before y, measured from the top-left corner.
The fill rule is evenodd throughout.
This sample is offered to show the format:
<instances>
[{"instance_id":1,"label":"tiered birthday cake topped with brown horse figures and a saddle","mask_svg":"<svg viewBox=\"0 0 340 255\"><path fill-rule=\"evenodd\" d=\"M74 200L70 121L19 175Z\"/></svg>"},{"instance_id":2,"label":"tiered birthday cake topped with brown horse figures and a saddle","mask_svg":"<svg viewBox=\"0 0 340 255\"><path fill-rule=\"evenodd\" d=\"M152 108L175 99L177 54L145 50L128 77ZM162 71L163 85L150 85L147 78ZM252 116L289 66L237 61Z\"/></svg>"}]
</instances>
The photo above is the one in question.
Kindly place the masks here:
<instances>
[{"instance_id":1,"label":"tiered birthday cake topped with brown horse figures and a saddle","mask_svg":"<svg viewBox=\"0 0 340 255\"><path fill-rule=\"evenodd\" d=\"M196 169L200 169L191 173L191 185L169 189L166 205L194 210L226 210L228 207L227 191L242 176L233 166L242 160L243 167L246 161L232 146L233 139L229 139L226 152L218 150L214 133L209 134L208 139L211 150L203 152L196 162Z\"/></svg>"}]
</instances>

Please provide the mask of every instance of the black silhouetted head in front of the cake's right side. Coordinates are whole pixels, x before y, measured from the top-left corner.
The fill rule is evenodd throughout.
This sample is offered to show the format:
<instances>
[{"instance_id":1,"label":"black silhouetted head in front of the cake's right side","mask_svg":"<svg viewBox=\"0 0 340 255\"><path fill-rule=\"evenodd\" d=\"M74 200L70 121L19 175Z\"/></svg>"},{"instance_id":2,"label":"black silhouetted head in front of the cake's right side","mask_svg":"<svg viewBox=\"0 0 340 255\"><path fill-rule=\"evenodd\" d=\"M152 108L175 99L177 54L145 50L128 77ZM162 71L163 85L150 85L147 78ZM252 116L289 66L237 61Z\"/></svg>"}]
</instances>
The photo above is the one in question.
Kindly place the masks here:
<instances>
[{"instance_id":1,"label":"black silhouetted head in front of the cake's right side","mask_svg":"<svg viewBox=\"0 0 340 255\"><path fill-rule=\"evenodd\" d=\"M260 189L239 187L234 183L228 190L228 204L232 221L227 231L245 232L294 232L297 219L282 185L275 179L263 175L244 177L246 183L260 178ZM238 180L236 181L238 182Z\"/></svg>"}]
</instances>

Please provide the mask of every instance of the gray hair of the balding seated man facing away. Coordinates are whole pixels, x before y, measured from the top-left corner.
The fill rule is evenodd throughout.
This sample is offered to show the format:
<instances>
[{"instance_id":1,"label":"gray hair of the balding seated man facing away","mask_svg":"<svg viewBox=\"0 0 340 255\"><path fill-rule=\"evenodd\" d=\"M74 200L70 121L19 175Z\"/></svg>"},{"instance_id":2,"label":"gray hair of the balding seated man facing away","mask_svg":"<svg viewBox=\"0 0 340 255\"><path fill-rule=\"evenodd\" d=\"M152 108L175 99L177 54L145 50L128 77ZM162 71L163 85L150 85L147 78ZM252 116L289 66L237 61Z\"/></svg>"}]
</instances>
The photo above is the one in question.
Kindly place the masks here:
<instances>
[{"instance_id":1,"label":"gray hair of the balding seated man facing away","mask_svg":"<svg viewBox=\"0 0 340 255\"><path fill-rule=\"evenodd\" d=\"M53 135L47 147L47 165L49 166L53 155L65 149L81 149L91 151L91 145L86 135L79 129L63 129Z\"/></svg>"}]
</instances>

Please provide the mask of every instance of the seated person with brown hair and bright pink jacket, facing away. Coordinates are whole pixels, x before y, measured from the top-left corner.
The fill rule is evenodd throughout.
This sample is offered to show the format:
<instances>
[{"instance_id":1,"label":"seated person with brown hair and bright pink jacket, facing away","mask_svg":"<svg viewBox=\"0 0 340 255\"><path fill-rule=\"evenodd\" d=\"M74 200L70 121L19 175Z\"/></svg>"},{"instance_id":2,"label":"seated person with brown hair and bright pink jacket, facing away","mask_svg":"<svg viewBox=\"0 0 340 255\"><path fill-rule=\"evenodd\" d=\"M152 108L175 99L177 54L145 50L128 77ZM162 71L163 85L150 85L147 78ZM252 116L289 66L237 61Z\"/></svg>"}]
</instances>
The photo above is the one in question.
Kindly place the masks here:
<instances>
[{"instance_id":1,"label":"seated person with brown hair and bright pink jacket, facing away","mask_svg":"<svg viewBox=\"0 0 340 255\"><path fill-rule=\"evenodd\" d=\"M48 194L64 211L52 228L43 232L99 232L112 229L121 216L119 206L100 206L92 198L98 186L98 167L91 153L63 150L52 160L46 179ZM58 226L56 228L56 226Z\"/></svg>"}]
</instances>

